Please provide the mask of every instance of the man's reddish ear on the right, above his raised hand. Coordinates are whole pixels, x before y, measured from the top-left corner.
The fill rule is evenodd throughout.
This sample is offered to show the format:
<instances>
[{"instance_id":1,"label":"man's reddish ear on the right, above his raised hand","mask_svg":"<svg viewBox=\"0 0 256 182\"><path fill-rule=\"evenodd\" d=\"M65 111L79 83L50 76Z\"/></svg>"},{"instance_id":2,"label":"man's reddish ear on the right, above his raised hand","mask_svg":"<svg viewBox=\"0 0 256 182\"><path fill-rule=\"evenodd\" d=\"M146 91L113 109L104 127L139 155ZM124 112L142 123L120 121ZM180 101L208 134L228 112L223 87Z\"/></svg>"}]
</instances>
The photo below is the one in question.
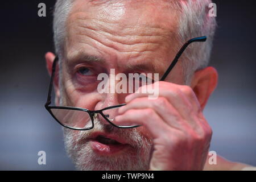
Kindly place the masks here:
<instances>
[{"instance_id":1,"label":"man's reddish ear on the right, above his raised hand","mask_svg":"<svg viewBox=\"0 0 256 182\"><path fill-rule=\"evenodd\" d=\"M195 92L202 109L204 109L210 94L216 88L217 82L218 73L213 67L200 69L193 75L191 88Z\"/></svg>"}]
</instances>

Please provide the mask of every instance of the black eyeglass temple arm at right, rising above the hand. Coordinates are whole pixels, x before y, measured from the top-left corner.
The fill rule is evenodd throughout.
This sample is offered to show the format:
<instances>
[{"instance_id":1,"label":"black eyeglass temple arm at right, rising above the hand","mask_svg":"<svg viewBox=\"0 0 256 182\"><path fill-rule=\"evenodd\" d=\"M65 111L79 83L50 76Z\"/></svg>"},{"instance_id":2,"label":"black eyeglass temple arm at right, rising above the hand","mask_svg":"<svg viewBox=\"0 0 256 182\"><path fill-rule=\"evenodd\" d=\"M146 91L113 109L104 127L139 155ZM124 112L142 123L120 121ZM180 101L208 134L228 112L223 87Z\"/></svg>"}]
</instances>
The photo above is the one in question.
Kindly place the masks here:
<instances>
[{"instance_id":1,"label":"black eyeglass temple arm at right, rising above the hand","mask_svg":"<svg viewBox=\"0 0 256 182\"><path fill-rule=\"evenodd\" d=\"M172 68L174 68L175 64L177 63L177 61L179 60L180 56L182 55L182 53L185 51L185 49L188 47L189 44L191 44L192 42L205 42L207 40L207 36L200 36L198 38L193 38L188 40L179 50L179 52L177 53L177 55L175 56L174 60L172 61L171 65L168 67L167 71L164 73L164 75L162 76L162 78L160 79L160 81L163 81L168 74L170 73L170 71L172 70Z\"/></svg>"}]
</instances>

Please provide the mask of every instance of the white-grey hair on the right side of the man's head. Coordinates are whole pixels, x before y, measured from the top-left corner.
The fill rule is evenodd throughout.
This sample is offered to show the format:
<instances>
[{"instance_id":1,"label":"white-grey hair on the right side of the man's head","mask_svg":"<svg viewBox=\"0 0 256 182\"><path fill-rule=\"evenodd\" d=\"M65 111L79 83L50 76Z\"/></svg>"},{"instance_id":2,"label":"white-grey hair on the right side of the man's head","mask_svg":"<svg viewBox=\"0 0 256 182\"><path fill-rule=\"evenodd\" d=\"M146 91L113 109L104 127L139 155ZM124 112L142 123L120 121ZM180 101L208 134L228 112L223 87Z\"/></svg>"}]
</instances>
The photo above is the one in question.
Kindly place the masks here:
<instances>
[{"instance_id":1,"label":"white-grey hair on the right side of the man's head","mask_svg":"<svg viewBox=\"0 0 256 182\"><path fill-rule=\"evenodd\" d=\"M192 43L181 56L185 83L189 85L195 71L207 67L212 51L215 17L209 16L209 4L212 0L175 0L174 8L180 11L177 38L180 47L187 40L199 36L207 36L207 42Z\"/></svg>"}]
</instances>

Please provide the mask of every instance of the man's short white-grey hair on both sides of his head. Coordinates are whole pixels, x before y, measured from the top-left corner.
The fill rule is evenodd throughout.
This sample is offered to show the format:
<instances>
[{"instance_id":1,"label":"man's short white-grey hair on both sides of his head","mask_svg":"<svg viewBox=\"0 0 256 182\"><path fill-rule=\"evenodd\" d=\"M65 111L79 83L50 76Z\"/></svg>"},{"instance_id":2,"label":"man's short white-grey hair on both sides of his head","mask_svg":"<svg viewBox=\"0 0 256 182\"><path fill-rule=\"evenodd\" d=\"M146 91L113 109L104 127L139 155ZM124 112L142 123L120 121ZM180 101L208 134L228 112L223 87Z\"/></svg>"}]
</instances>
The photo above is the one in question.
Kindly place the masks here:
<instances>
[{"instance_id":1,"label":"man's short white-grey hair on both sides of his head","mask_svg":"<svg viewBox=\"0 0 256 182\"><path fill-rule=\"evenodd\" d=\"M55 52L59 55L60 60L64 58L65 27L74 1L57 0L55 4L53 32ZM190 84L193 73L198 69L207 67L209 64L216 29L216 19L208 15L208 6L212 0L170 0L170 2L171 8L180 11L179 30L177 30L179 47L191 38L207 36L207 42L192 43L181 56L185 83Z\"/></svg>"}]
</instances>

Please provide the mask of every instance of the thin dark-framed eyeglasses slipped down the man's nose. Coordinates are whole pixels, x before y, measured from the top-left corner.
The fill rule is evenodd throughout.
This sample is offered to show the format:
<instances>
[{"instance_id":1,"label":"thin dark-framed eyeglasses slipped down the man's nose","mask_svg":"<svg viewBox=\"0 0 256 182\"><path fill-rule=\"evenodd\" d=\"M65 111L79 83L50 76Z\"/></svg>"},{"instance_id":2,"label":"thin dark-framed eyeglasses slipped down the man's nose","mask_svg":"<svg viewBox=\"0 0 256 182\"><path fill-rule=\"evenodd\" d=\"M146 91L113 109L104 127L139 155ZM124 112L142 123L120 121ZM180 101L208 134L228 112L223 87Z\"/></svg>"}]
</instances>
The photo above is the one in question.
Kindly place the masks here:
<instances>
[{"instance_id":1,"label":"thin dark-framed eyeglasses slipped down the man's nose","mask_svg":"<svg viewBox=\"0 0 256 182\"><path fill-rule=\"evenodd\" d=\"M175 64L179 60L179 57L185 51L189 44L193 42L205 42L207 40L206 36L201 36L199 38L193 38L188 40L177 52L174 60L168 67L167 71L164 73L160 81L164 81L164 79L168 76L171 72L172 68L174 68ZM109 122L111 125L121 128L121 129L130 129L139 127L140 125L136 126L119 126L115 125L114 117L118 114L118 108L125 106L126 104L119 104L114 106L105 107L101 110L88 110L81 107L70 107L70 106L49 106L51 104L51 92L52 92L52 85L53 80L55 77L55 68L58 61L58 57L55 57L55 60L52 64L52 75L51 75L51 82L49 84L47 102L45 104L46 109L52 115L52 117L60 123L60 125L67 127L68 129L73 130L91 130L94 127L94 119L96 117L101 117Z\"/></svg>"}]
</instances>

